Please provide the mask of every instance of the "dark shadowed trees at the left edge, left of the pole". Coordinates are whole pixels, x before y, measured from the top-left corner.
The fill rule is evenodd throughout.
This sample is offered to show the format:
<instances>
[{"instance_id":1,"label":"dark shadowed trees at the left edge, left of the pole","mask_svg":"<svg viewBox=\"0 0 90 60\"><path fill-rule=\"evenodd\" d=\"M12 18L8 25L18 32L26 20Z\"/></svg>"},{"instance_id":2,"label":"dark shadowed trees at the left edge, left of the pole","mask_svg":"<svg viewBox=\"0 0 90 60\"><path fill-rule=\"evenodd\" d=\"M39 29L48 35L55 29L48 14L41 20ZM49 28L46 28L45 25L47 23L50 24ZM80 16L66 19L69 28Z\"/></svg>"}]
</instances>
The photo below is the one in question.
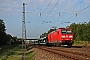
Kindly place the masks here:
<instances>
[{"instance_id":1,"label":"dark shadowed trees at the left edge, left of the pole","mask_svg":"<svg viewBox=\"0 0 90 60\"><path fill-rule=\"evenodd\" d=\"M12 37L6 33L6 26L2 19L0 19L0 46L21 44L17 37Z\"/></svg>"}]
</instances>

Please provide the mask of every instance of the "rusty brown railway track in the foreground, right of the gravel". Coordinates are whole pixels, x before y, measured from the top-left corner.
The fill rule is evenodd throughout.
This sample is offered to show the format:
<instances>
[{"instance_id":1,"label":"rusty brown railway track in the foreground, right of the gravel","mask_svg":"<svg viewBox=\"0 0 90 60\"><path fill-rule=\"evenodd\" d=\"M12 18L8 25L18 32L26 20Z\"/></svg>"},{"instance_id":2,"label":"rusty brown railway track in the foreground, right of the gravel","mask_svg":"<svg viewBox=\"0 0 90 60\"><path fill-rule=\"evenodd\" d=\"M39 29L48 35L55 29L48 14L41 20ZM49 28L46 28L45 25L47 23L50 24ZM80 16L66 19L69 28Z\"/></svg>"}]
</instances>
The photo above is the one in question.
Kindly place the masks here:
<instances>
[{"instance_id":1,"label":"rusty brown railway track in the foreground, right of the gravel","mask_svg":"<svg viewBox=\"0 0 90 60\"><path fill-rule=\"evenodd\" d=\"M65 49L57 49L53 47L37 47L38 49L42 49L44 51L48 51L54 54L58 54L60 56L66 57L70 60L90 60L90 54L85 54L81 52L74 52L71 50L65 50Z\"/></svg>"}]
</instances>

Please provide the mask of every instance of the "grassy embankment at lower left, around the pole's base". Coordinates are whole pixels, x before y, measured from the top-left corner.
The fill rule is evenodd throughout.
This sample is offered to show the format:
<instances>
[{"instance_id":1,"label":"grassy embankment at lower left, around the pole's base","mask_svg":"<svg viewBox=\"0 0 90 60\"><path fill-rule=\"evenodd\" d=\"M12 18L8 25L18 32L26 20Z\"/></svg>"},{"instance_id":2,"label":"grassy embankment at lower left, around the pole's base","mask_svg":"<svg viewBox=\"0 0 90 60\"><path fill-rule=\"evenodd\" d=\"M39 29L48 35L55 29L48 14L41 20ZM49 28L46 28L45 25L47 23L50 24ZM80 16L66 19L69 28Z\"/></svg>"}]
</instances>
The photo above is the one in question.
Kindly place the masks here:
<instances>
[{"instance_id":1,"label":"grassy embankment at lower left, around the pole's base","mask_svg":"<svg viewBox=\"0 0 90 60\"><path fill-rule=\"evenodd\" d=\"M0 60L22 60L23 51L21 46L5 46L0 48ZM27 50L25 60L34 60L34 54Z\"/></svg>"}]
</instances>

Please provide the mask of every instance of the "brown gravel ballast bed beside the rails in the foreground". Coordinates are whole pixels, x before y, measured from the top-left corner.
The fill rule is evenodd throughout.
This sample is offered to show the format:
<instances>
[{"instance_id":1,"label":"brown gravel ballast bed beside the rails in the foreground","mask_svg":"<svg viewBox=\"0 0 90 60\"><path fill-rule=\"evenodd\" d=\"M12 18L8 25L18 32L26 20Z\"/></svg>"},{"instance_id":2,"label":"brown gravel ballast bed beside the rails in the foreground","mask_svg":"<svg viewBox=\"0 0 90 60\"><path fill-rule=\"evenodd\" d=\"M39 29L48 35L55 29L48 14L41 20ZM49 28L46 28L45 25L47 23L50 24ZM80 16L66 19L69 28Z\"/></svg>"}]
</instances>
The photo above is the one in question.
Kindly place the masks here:
<instances>
[{"instance_id":1,"label":"brown gravel ballast bed beside the rails in the foreground","mask_svg":"<svg viewBox=\"0 0 90 60\"><path fill-rule=\"evenodd\" d=\"M33 48L32 50L35 54L35 56L33 57L34 60L70 60L58 54L47 52L38 48Z\"/></svg>"}]
</instances>

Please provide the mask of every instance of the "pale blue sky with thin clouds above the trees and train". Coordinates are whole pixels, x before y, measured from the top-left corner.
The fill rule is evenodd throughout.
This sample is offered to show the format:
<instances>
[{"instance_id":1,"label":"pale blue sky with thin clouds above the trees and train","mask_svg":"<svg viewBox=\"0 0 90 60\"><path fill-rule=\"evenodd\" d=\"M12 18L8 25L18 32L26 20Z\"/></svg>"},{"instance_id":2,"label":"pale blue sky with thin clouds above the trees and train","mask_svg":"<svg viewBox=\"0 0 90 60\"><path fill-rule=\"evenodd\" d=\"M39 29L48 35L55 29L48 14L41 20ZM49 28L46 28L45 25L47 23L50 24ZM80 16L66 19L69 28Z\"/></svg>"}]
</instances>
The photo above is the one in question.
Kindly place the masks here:
<instances>
[{"instance_id":1,"label":"pale blue sky with thin clouds above the trees and train","mask_svg":"<svg viewBox=\"0 0 90 60\"><path fill-rule=\"evenodd\" d=\"M90 0L0 0L0 19L7 34L22 37L23 3L27 38L39 38L52 26L90 21Z\"/></svg>"}]
</instances>

